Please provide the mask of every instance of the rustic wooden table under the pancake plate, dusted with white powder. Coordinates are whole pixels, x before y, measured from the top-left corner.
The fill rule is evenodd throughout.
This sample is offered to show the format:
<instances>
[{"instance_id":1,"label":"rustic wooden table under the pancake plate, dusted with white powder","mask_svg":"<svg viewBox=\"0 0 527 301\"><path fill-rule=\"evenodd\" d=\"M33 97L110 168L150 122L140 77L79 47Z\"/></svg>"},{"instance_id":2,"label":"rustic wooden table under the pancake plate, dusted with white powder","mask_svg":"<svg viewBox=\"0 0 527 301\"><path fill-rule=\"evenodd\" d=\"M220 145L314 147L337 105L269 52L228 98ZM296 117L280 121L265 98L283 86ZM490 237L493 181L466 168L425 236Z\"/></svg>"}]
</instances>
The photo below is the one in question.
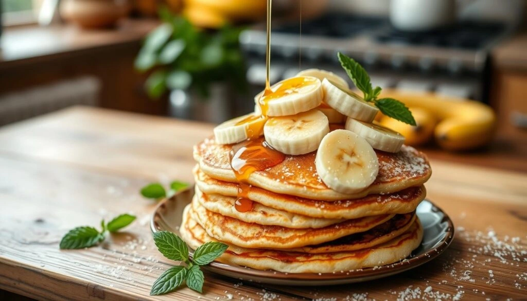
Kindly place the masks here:
<instances>
[{"instance_id":1,"label":"rustic wooden table under the pancake plate, dusted with white powder","mask_svg":"<svg viewBox=\"0 0 527 301\"><path fill-rule=\"evenodd\" d=\"M335 287L280 287L206 275L150 297L174 263L155 248L151 181L192 181L192 145L211 125L72 108L0 129L0 288L41 300L521 299L527 296L527 174L432 160L428 197L456 225L440 257L401 275ZM487 158L492 160L492 158ZM99 247L58 249L75 226L133 212ZM294 276L291 276L294 277Z\"/></svg>"}]
</instances>

